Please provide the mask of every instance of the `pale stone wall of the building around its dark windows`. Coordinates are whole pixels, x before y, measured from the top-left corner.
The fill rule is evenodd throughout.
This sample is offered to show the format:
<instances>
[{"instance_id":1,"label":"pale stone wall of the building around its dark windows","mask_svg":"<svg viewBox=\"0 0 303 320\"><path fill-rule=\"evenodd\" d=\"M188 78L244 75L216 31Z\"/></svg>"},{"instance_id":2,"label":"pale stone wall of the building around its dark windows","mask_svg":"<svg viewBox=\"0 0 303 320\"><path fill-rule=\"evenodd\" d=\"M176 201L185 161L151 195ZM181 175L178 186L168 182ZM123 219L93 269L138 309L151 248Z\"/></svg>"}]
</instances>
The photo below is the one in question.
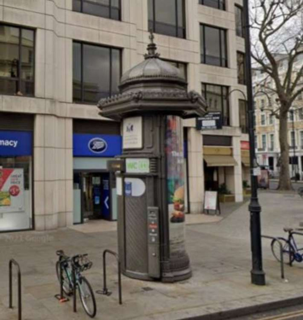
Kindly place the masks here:
<instances>
[{"instance_id":1,"label":"pale stone wall of the building around its dark windows","mask_svg":"<svg viewBox=\"0 0 303 320\"><path fill-rule=\"evenodd\" d=\"M227 11L186 1L187 39L155 34L158 52L164 59L188 64L188 88L201 92L201 82L222 84L245 92L237 84L236 50L244 51L244 40L235 36L234 0ZM237 3L241 4L241 1ZM72 224L72 119L101 119L92 105L72 102L72 41L86 41L123 49L123 71L142 61L148 39L147 0L123 0L122 21L73 12L72 0L0 0L0 21L36 29L35 98L0 95L0 112L35 114L34 208L36 229L53 229ZM226 28L228 68L200 64L199 23ZM221 134L235 137L239 154L238 102L230 97L231 127ZM188 135L190 206L201 212L203 201L202 136L195 121ZM217 134L217 132L213 133ZM240 167L241 168L241 167ZM241 180L241 170L234 175ZM242 185L242 183L241 183ZM235 181L235 194L241 200Z\"/></svg>"}]
</instances>

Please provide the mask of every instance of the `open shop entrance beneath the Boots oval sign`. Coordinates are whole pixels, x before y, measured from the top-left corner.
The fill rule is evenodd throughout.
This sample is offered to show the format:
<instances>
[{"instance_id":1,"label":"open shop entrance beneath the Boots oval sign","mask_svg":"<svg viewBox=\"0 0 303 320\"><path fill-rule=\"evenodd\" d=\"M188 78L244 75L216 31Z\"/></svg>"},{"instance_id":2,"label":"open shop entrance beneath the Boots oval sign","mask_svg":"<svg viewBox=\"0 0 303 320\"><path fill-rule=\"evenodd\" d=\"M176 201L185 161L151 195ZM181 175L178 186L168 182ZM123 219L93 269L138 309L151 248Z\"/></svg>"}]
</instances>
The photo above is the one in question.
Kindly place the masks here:
<instances>
[{"instance_id":1,"label":"open shop entrance beneath the Boots oval sign","mask_svg":"<svg viewBox=\"0 0 303 320\"><path fill-rule=\"evenodd\" d=\"M112 220L108 172L74 172L74 223Z\"/></svg>"}]
</instances>

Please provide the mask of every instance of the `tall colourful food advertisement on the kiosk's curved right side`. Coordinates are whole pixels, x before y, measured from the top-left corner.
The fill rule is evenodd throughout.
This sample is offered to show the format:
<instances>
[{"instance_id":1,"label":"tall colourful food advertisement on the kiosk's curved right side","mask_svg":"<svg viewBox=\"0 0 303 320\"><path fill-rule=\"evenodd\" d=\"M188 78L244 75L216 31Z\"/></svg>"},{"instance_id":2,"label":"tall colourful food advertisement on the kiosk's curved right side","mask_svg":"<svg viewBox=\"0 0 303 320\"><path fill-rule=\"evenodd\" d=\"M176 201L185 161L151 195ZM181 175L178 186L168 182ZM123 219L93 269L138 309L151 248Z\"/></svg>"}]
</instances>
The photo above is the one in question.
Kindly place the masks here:
<instances>
[{"instance_id":1,"label":"tall colourful food advertisement on the kiosk's curved right side","mask_svg":"<svg viewBox=\"0 0 303 320\"><path fill-rule=\"evenodd\" d=\"M165 153L167 163L167 198L170 252L185 250L184 153L182 120L167 116Z\"/></svg>"}]
</instances>

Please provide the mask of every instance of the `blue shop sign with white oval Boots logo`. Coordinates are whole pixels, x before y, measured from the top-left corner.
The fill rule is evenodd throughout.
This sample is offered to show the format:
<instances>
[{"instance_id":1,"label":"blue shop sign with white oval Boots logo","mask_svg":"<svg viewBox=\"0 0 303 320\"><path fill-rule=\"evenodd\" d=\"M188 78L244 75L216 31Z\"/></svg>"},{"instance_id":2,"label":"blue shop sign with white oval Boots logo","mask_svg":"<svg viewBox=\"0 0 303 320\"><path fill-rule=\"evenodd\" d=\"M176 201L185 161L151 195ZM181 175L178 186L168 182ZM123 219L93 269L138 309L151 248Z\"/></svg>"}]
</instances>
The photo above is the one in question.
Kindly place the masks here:
<instances>
[{"instance_id":1,"label":"blue shop sign with white oval Boots logo","mask_svg":"<svg viewBox=\"0 0 303 320\"><path fill-rule=\"evenodd\" d=\"M74 156L112 157L121 155L122 137L114 134L73 134Z\"/></svg>"}]
</instances>

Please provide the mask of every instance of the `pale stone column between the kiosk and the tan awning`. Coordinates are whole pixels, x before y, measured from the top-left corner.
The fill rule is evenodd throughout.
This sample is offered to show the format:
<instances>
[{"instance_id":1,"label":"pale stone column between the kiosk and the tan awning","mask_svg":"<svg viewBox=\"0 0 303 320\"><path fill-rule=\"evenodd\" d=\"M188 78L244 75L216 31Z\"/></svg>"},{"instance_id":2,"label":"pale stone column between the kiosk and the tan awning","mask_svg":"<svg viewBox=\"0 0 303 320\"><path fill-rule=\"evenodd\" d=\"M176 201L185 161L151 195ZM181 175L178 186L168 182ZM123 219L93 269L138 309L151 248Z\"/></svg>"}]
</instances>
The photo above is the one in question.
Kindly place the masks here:
<instances>
[{"instance_id":1,"label":"pale stone column between the kiosk and the tan awning","mask_svg":"<svg viewBox=\"0 0 303 320\"><path fill-rule=\"evenodd\" d=\"M188 128L187 139L190 213L201 213L204 194L202 134L195 128Z\"/></svg>"}]
</instances>

